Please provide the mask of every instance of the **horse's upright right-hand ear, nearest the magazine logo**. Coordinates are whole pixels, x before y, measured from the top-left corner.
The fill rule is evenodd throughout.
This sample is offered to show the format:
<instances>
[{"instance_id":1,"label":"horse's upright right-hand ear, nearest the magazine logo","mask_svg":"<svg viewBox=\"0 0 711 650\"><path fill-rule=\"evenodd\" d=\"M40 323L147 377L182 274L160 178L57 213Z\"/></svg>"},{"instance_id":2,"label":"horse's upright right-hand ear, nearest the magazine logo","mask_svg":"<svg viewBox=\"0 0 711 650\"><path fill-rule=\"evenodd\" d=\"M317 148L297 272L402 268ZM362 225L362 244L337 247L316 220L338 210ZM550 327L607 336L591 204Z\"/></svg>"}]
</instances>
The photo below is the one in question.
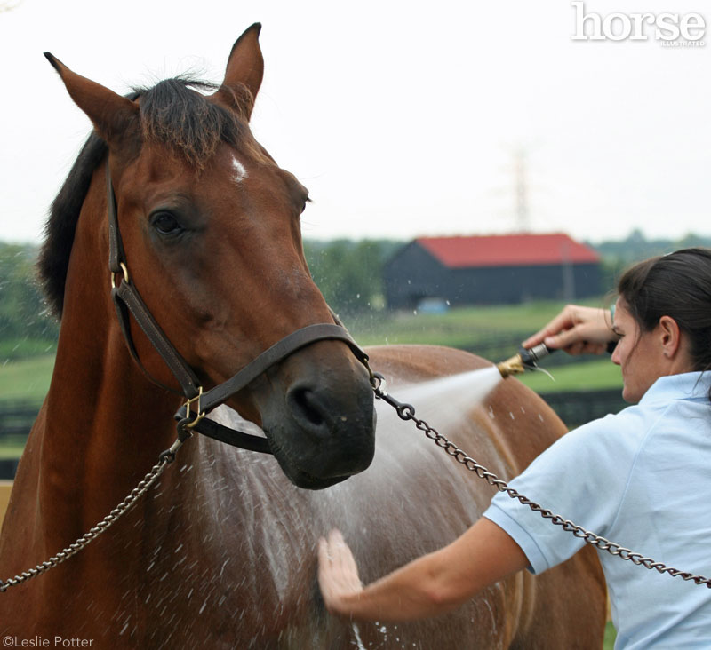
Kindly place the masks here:
<instances>
[{"instance_id":1,"label":"horse's upright right-hand ear, nearest the magazine logo","mask_svg":"<svg viewBox=\"0 0 711 650\"><path fill-rule=\"evenodd\" d=\"M254 99L260 91L264 76L264 57L260 49L261 23L255 22L252 27L244 30L232 46L229 53L228 67L222 88L215 94L229 106L235 107L249 119L254 107ZM249 97L244 98L246 88Z\"/></svg>"}]
</instances>

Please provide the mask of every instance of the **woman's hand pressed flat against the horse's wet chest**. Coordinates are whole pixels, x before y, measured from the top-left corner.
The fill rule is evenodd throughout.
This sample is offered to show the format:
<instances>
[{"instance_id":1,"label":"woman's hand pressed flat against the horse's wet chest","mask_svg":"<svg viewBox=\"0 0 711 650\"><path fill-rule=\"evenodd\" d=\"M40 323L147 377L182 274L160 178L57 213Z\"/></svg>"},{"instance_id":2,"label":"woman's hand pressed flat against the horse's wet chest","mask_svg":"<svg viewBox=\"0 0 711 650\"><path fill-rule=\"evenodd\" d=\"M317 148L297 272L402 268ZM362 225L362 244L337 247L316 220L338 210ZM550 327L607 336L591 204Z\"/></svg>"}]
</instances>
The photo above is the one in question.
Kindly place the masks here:
<instances>
[{"instance_id":1,"label":"woman's hand pressed flat against the horse's wet chest","mask_svg":"<svg viewBox=\"0 0 711 650\"><path fill-rule=\"evenodd\" d=\"M348 615L348 599L352 602L363 591L356 560L338 530L318 542L318 584L332 614Z\"/></svg>"}]
</instances>

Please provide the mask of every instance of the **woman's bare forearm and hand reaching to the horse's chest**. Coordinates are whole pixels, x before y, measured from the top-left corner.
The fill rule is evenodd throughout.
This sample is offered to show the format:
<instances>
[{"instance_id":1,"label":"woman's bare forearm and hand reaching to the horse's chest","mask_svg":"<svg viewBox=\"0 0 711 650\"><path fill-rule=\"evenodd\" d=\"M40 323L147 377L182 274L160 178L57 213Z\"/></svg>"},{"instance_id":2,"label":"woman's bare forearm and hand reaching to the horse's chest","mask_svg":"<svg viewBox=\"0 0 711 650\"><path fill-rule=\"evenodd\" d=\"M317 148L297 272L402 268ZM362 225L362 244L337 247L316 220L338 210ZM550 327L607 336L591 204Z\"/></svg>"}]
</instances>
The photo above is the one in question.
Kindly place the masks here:
<instances>
[{"instance_id":1,"label":"woman's bare forearm and hand reaching to the horse's chest","mask_svg":"<svg viewBox=\"0 0 711 650\"><path fill-rule=\"evenodd\" d=\"M528 566L521 548L489 519L365 587L339 531L321 539L318 583L332 614L363 621L408 621L443 614Z\"/></svg>"}]
</instances>

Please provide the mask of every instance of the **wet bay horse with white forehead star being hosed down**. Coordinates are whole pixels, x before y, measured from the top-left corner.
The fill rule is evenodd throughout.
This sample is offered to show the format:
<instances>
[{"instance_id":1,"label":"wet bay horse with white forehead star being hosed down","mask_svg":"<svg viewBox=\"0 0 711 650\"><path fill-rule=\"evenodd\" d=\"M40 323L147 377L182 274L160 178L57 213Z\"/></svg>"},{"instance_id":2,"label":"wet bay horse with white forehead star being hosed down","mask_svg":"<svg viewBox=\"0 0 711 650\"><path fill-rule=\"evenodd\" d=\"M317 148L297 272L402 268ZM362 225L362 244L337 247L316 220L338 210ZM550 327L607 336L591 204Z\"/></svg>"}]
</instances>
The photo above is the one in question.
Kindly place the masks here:
<instances>
[{"instance_id":1,"label":"wet bay horse with white forehead star being hosed down","mask_svg":"<svg viewBox=\"0 0 711 650\"><path fill-rule=\"evenodd\" d=\"M212 94L172 79L122 97L47 55L94 132L52 204L40 257L60 340L4 519L2 579L67 547L171 446L184 401L171 390L173 357L211 394L290 333L337 327L302 252L307 191L249 130L259 33L253 25L236 41ZM158 329L137 326L135 305L116 317L112 282L112 293L140 289ZM156 351L158 330L174 349ZM395 388L491 365L439 347L369 353ZM0 635L94 648L602 645L604 584L590 550L429 621L355 627L327 614L320 535L340 527L371 580L450 542L492 488L382 408L375 450L371 377L346 337L309 341L255 375L224 392L213 419L232 425L234 409L274 456L186 440L113 527L0 593ZM505 479L564 432L515 380L455 419L442 432Z\"/></svg>"}]
</instances>

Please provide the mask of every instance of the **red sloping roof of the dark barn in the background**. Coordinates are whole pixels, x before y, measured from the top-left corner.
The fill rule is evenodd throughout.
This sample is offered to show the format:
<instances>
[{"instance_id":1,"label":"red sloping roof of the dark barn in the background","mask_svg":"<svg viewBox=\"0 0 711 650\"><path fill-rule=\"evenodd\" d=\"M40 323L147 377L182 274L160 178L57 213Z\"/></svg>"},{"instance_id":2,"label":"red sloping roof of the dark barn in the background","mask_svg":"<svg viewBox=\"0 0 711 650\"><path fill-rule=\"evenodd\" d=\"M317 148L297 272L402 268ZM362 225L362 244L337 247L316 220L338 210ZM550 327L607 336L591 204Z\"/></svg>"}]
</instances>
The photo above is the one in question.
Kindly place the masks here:
<instances>
[{"instance_id":1,"label":"red sloping roof of the dark barn in the background","mask_svg":"<svg viewBox=\"0 0 711 650\"><path fill-rule=\"evenodd\" d=\"M567 234L492 234L471 237L419 237L422 248L450 268L535 266L599 262L595 250Z\"/></svg>"}]
</instances>

